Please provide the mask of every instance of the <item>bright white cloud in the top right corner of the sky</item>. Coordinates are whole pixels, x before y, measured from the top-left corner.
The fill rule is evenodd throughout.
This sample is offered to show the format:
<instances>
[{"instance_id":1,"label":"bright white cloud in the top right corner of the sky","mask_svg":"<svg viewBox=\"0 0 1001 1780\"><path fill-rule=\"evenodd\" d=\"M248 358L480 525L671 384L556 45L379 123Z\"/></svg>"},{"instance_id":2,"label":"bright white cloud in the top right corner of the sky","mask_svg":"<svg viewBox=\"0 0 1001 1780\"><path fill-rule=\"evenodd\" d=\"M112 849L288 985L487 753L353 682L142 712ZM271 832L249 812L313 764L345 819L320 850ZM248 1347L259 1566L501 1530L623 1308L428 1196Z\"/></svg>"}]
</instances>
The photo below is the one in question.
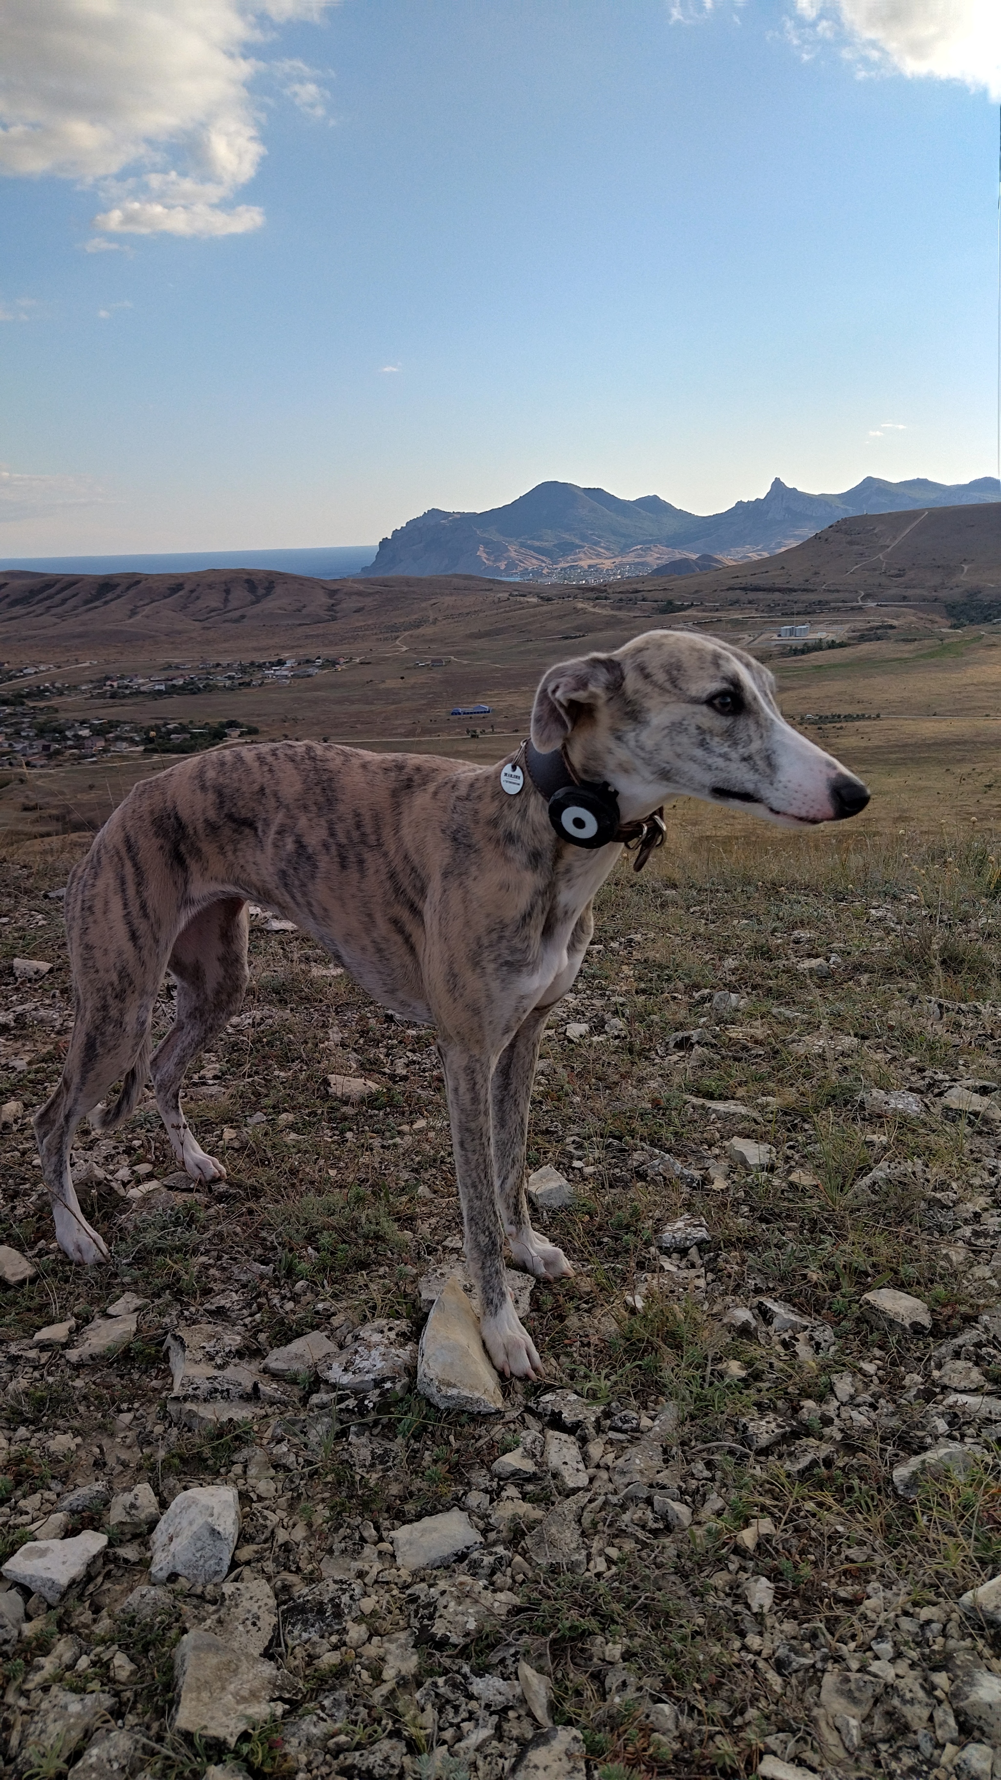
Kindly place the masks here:
<instances>
[{"instance_id":1,"label":"bright white cloud in the top right corner of the sky","mask_svg":"<svg viewBox=\"0 0 1001 1780\"><path fill-rule=\"evenodd\" d=\"M842 43L859 73L962 80L1001 100L997 0L796 0L803 21L785 21L803 57Z\"/></svg>"}]
</instances>

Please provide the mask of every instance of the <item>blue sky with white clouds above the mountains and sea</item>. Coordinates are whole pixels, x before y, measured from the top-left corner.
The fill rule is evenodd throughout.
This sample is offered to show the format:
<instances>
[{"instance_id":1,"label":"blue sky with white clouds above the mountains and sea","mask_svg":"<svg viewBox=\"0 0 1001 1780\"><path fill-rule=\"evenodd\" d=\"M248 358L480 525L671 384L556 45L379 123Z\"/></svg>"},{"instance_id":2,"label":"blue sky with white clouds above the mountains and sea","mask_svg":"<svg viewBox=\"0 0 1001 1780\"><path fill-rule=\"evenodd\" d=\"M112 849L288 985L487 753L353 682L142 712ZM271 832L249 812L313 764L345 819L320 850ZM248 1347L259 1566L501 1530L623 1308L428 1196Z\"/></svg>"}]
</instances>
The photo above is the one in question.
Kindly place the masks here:
<instances>
[{"instance_id":1,"label":"blue sky with white clouds above the mountains and sea","mask_svg":"<svg viewBox=\"0 0 1001 1780\"><path fill-rule=\"evenodd\" d=\"M0 555L996 473L997 0L0 28Z\"/></svg>"}]
</instances>

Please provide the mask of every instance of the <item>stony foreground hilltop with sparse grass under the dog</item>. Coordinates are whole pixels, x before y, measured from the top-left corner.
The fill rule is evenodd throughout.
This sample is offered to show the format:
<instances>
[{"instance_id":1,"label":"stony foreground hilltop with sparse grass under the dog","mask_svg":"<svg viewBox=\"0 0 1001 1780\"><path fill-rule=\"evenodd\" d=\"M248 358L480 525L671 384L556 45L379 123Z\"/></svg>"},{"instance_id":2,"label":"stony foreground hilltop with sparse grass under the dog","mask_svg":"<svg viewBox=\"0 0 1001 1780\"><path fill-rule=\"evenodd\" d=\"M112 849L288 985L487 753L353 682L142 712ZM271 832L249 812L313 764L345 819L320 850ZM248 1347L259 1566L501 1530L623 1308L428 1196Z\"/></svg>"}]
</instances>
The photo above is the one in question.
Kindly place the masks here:
<instances>
[{"instance_id":1,"label":"stony foreground hilltop with sparse grass under the dog","mask_svg":"<svg viewBox=\"0 0 1001 1780\"><path fill-rule=\"evenodd\" d=\"M502 1388L456 1374L431 1036L267 915L187 1098L228 1180L150 1104L82 1130L114 1260L69 1267L30 1112L78 846L7 858L9 1771L1001 1775L997 869L664 851L547 1038L529 1166L577 1274L515 1276L547 1378Z\"/></svg>"}]
</instances>

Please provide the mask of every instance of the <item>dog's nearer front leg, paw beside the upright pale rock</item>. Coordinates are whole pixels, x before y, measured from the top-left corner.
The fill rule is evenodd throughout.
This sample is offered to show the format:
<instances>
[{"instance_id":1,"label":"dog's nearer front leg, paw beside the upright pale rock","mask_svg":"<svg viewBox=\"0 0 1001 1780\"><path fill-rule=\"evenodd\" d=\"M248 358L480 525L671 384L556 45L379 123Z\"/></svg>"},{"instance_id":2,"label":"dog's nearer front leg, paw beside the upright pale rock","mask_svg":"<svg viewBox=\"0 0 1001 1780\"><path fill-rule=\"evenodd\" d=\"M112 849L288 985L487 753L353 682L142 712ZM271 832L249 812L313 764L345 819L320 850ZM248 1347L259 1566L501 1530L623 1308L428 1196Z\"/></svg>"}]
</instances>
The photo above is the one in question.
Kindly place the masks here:
<instances>
[{"instance_id":1,"label":"dog's nearer front leg, paw beside the upright pale rock","mask_svg":"<svg viewBox=\"0 0 1001 1780\"><path fill-rule=\"evenodd\" d=\"M490 1059L440 1041L465 1251L479 1294L483 1346L504 1378L541 1378L541 1360L522 1328L504 1278L504 1235L493 1185Z\"/></svg>"}]
</instances>

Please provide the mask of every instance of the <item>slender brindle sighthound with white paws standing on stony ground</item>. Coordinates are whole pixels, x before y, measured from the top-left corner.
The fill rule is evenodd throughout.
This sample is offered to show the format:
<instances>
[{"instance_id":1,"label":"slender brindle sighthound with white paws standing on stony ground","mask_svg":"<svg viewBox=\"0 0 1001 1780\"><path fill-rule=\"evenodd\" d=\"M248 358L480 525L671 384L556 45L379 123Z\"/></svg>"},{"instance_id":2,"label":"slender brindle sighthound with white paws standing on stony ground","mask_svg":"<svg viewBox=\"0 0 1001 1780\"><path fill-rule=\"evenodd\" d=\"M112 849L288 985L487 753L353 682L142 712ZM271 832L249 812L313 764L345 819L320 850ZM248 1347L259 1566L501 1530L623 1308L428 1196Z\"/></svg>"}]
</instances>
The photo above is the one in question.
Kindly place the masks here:
<instances>
[{"instance_id":1,"label":"slender brindle sighthound with white paws standing on stony ground","mask_svg":"<svg viewBox=\"0 0 1001 1780\"><path fill-rule=\"evenodd\" d=\"M591 901L622 844L679 792L787 828L869 801L789 728L773 685L741 650L650 630L550 668L531 742L500 765L265 742L135 785L66 890L77 1020L62 1080L36 1116L59 1246L73 1260L107 1257L73 1193L69 1145L87 1112L100 1129L125 1118L148 1075L187 1173L224 1177L189 1130L180 1084L240 1006L253 899L310 933L385 1007L436 1027L483 1340L500 1372L534 1378L504 1237L529 1273L572 1271L529 1223L529 1095L547 1015L581 968ZM565 810L563 826L554 785L586 805L570 821ZM176 1016L150 1056L166 970Z\"/></svg>"}]
</instances>

